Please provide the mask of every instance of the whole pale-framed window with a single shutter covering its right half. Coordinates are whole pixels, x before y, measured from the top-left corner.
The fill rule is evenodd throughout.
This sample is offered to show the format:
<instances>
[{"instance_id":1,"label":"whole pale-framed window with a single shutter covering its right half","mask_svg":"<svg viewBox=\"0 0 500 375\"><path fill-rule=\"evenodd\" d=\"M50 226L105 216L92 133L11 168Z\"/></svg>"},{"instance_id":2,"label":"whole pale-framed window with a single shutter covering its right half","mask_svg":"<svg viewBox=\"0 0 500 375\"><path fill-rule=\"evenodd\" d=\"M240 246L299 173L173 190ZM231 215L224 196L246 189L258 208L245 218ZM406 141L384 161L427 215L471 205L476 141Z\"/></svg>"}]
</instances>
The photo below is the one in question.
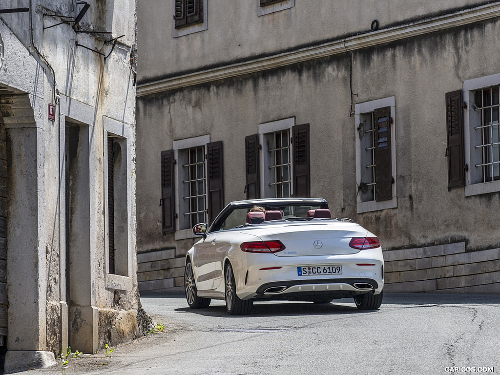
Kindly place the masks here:
<instances>
[{"instance_id":1,"label":"whole pale-framed window with a single shutter covering its right half","mask_svg":"<svg viewBox=\"0 0 500 375\"><path fill-rule=\"evenodd\" d=\"M355 105L357 212L396 207L394 97Z\"/></svg>"}]
</instances>

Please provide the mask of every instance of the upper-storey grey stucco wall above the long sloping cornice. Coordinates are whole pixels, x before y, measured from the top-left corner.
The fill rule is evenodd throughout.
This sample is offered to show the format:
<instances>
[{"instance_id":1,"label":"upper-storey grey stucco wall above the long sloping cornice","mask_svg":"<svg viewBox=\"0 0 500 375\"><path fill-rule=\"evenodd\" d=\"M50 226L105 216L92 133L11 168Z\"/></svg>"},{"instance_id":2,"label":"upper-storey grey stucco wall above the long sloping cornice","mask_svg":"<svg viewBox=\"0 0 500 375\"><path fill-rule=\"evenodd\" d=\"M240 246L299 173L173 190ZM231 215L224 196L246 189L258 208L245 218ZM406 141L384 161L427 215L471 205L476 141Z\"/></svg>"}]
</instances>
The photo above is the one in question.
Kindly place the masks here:
<instances>
[{"instance_id":1,"label":"upper-storey grey stucco wall above the long sloping cornice","mask_svg":"<svg viewBox=\"0 0 500 375\"><path fill-rule=\"evenodd\" d=\"M258 16L258 0L210 0L207 29L174 38L173 1L139 0L139 83L367 31L373 19L387 27L487 2L295 1L292 8Z\"/></svg>"}]
</instances>

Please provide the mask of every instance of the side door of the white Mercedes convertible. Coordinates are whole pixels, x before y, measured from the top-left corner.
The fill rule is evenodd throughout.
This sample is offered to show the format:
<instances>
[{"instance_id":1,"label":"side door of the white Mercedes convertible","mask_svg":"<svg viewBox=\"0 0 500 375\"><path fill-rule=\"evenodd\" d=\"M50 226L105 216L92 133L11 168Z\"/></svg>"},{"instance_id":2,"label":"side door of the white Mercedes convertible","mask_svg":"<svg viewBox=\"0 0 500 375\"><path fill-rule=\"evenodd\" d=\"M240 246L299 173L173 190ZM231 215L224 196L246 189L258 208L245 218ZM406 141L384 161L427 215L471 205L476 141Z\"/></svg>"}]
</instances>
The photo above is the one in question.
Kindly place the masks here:
<instances>
[{"instance_id":1,"label":"side door of the white Mercedes convertible","mask_svg":"<svg viewBox=\"0 0 500 375\"><path fill-rule=\"evenodd\" d=\"M213 289L215 276L216 232L208 233L205 238L193 246L193 266L195 268L196 287L198 290Z\"/></svg>"}]
</instances>

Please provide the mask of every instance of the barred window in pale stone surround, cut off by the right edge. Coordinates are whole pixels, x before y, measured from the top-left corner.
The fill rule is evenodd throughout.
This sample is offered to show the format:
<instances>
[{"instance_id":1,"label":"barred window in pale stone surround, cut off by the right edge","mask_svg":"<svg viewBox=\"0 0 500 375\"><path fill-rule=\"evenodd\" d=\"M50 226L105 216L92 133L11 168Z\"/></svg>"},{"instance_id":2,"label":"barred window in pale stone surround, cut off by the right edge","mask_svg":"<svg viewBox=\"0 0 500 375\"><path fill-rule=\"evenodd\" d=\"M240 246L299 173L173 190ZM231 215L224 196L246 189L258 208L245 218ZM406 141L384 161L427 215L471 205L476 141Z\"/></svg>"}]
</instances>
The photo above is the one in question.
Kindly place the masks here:
<instances>
[{"instance_id":1,"label":"barred window in pale stone surround, cut off by the right edge","mask_svg":"<svg viewBox=\"0 0 500 375\"><path fill-rule=\"evenodd\" d=\"M500 190L500 74L463 83L464 157L456 161L464 175L465 195ZM459 91L458 91L459 92ZM457 116L461 119L460 116ZM461 125L461 123L459 123ZM449 138L449 134L448 134ZM451 153L448 152L448 156ZM463 185L463 183L462 183Z\"/></svg>"}]
</instances>

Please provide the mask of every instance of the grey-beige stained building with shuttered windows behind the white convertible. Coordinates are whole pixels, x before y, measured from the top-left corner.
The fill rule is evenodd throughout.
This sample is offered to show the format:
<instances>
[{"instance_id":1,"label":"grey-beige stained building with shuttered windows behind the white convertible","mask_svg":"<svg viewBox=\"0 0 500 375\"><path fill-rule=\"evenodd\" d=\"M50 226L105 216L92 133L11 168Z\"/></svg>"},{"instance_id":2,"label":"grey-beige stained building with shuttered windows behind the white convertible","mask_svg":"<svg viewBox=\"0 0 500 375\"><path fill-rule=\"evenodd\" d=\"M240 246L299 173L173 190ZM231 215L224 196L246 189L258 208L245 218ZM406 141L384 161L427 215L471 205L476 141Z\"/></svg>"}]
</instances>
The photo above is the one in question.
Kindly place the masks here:
<instances>
[{"instance_id":1,"label":"grey-beige stained building with shuttered windows behind the white convertible","mask_svg":"<svg viewBox=\"0 0 500 375\"><path fill-rule=\"evenodd\" d=\"M231 200L324 197L386 290L500 292L500 1L138 7L141 290L183 285ZM158 206L159 203L159 206Z\"/></svg>"}]
</instances>

